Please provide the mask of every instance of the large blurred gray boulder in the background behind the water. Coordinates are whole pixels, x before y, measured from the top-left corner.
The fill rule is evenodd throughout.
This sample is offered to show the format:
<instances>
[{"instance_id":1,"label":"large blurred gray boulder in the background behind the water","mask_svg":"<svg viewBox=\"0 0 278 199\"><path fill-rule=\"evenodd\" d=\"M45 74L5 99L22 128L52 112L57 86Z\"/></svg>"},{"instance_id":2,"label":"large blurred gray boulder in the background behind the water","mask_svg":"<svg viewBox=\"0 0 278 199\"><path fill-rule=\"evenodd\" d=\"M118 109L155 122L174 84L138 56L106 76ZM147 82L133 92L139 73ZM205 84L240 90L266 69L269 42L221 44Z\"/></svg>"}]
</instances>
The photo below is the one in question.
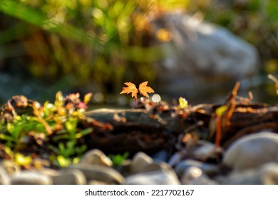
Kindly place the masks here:
<instances>
[{"instance_id":1,"label":"large blurred gray boulder in the background behind the water","mask_svg":"<svg viewBox=\"0 0 278 199\"><path fill-rule=\"evenodd\" d=\"M163 92L186 91L192 97L196 88L198 93L219 92L219 87L230 91L237 80L253 77L259 70L257 49L227 28L183 13L164 14L153 26L157 33L164 28L172 36L172 41L162 44L165 59L155 66Z\"/></svg>"}]
</instances>

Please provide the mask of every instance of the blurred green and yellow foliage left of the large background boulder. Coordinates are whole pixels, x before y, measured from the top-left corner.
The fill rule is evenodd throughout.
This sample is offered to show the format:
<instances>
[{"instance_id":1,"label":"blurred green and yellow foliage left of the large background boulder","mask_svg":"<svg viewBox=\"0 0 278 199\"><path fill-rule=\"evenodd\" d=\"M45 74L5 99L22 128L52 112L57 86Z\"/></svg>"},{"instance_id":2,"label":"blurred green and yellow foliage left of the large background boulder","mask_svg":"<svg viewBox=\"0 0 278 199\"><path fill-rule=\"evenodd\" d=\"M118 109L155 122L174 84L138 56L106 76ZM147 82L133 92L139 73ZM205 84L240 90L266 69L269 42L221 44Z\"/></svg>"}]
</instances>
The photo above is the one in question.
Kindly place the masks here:
<instances>
[{"instance_id":1,"label":"blurred green and yellow foliage left of the large background boulder","mask_svg":"<svg viewBox=\"0 0 278 199\"><path fill-rule=\"evenodd\" d=\"M118 91L123 79L155 78L150 63L163 55L158 46L144 45L148 14L186 2L3 0L0 48L20 45L23 67L48 83L71 77L68 86ZM6 53L4 61L18 56L13 50L16 55Z\"/></svg>"}]
</instances>

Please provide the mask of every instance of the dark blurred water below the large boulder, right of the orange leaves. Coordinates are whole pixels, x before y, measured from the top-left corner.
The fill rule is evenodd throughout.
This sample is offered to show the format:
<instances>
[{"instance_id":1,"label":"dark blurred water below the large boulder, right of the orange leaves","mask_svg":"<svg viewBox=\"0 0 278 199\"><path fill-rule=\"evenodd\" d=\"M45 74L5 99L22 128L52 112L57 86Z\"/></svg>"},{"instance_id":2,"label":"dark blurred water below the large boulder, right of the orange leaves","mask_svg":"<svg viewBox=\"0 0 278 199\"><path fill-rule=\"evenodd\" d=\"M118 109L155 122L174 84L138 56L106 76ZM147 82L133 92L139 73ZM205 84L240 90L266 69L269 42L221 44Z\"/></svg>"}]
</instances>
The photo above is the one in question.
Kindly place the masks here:
<instances>
[{"instance_id":1,"label":"dark blurred water below the large boulder, right of the orange leaves","mask_svg":"<svg viewBox=\"0 0 278 199\"><path fill-rule=\"evenodd\" d=\"M203 85L195 85L194 82L183 81L175 85L164 85L158 92L167 100L185 97L189 104L202 103L223 103L232 92L236 82L215 83L207 82ZM240 81L240 90L237 95L249 97L252 92L252 102L277 104L278 97L275 91L274 82L267 78L267 75L257 75Z\"/></svg>"}]
</instances>

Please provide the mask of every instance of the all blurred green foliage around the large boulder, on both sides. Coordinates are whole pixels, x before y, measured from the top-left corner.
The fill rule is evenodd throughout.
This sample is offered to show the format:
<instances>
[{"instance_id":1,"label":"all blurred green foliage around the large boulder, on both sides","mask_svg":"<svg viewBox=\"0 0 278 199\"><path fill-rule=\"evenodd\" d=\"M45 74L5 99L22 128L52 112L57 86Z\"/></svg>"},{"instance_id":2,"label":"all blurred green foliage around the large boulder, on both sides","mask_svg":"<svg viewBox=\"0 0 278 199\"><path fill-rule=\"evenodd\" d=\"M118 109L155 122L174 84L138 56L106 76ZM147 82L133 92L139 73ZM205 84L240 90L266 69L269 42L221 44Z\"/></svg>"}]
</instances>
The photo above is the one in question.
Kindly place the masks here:
<instances>
[{"instance_id":1,"label":"all blurred green foliage around the large boulder, on both sides","mask_svg":"<svg viewBox=\"0 0 278 199\"><path fill-rule=\"evenodd\" d=\"M151 41L167 41L167 31L155 35L151 22L177 9L229 28L277 72L277 0L1 0L0 70L16 65L56 90L118 93L123 82L152 82L150 65L165 55Z\"/></svg>"}]
</instances>

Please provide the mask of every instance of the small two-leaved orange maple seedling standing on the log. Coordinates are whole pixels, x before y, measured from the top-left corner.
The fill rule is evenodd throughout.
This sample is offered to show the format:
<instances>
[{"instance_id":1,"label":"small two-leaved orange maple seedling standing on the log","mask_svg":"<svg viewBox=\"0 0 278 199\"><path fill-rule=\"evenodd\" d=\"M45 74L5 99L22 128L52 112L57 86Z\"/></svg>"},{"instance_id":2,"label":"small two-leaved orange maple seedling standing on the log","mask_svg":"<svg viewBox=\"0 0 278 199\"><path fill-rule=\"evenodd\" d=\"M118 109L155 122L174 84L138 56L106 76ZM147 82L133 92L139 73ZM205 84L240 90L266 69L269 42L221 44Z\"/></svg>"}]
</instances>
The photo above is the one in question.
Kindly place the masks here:
<instances>
[{"instance_id":1,"label":"small two-leaved orange maple seedling standing on the log","mask_svg":"<svg viewBox=\"0 0 278 199\"><path fill-rule=\"evenodd\" d=\"M151 87L147 86L148 81L140 83L138 89L135 86L135 84L133 84L131 82L125 82L125 85L127 85L128 87L123 87L123 90L122 90L122 92L120 92L120 94L129 94L131 92L131 97L135 98L135 102L137 102L138 91L140 92L141 95L143 95L145 97L149 97L148 92L149 93L155 92Z\"/></svg>"}]
</instances>

